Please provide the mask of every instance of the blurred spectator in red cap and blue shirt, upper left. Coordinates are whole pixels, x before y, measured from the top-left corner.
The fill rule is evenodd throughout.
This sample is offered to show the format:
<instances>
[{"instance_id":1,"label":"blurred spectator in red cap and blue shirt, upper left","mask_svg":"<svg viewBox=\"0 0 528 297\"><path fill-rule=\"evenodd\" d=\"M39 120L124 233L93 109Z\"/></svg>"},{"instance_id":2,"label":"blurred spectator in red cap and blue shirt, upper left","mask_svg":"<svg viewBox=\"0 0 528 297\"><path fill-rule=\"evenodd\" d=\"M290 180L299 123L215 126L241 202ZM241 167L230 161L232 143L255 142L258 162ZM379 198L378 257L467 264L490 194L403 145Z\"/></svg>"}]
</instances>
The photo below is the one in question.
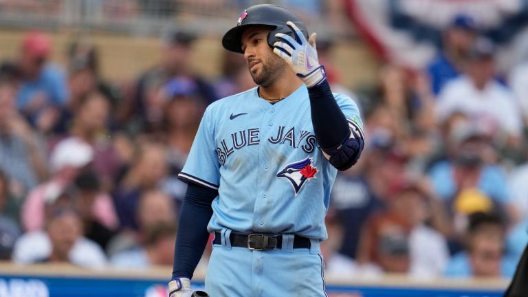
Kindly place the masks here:
<instances>
[{"instance_id":1,"label":"blurred spectator in red cap and blue shirt, upper left","mask_svg":"<svg viewBox=\"0 0 528 297\"><path fill-rule=\"evenodd\" d=\"M32 124L38 126L44 112L60 109L67 100L65 75L49 62L52 54L50 36L29 32L21 41L20 55L15 62L22 80L17 94L17 107Z\"/></svg>"}]
</instances>

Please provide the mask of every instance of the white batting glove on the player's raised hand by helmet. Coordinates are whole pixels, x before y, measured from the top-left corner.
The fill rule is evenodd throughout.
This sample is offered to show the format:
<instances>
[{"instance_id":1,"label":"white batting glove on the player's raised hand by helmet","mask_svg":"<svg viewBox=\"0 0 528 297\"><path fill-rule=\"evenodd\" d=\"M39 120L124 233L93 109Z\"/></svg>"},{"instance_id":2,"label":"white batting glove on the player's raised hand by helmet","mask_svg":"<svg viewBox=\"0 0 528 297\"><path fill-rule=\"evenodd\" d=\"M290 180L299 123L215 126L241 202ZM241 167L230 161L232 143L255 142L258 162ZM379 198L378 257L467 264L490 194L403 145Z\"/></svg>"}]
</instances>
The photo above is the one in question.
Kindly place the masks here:
<instances>
[{"instance_id":1,"label":"white batting glove on the player's raised hand by helmet","mask_svg":"<svg viewBox=\"0 0 528 297\"><path fill-rule=\"evenodd\" d=\"M273 52L292 67L307 87L319 85L327 79L327 74L317 58L317 34L312 33L306 40L303 32L294 23L289 21L286 25L294 32L295 39L283 33L275 34L280 41L273 44Z\"/></svg>"}]
</instances>

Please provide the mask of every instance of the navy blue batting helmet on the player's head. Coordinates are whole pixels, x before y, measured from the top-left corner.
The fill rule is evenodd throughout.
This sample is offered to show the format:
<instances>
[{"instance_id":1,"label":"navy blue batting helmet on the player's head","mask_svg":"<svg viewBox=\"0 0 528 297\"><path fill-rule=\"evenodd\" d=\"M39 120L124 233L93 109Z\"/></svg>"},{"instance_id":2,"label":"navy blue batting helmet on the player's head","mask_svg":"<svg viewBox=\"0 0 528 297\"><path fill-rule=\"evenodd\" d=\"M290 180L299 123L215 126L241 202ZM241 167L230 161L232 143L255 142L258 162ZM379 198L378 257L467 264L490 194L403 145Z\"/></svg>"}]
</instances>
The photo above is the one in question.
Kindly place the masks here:
<instances>
[{"instance_id":1,"label":"navy blue batting helmet on the player's head","mask_svg":"<svg viewBox=\"0 0 528 297\"><path fill-rule=\"evenodd\" d=\"M225 50L243 54L241 36L244 30L250 25L269 25L272 27L272 31L267 35L267 44L273 47L273 44L278 41L275 37L277 33L294 37L292 30L286 25L287 21L292 21L308 39L306 25L293 12L278 5L259 4L244 10L239 15L236 26L223 36L222 45Z\"/></svg>"}]
</instances>

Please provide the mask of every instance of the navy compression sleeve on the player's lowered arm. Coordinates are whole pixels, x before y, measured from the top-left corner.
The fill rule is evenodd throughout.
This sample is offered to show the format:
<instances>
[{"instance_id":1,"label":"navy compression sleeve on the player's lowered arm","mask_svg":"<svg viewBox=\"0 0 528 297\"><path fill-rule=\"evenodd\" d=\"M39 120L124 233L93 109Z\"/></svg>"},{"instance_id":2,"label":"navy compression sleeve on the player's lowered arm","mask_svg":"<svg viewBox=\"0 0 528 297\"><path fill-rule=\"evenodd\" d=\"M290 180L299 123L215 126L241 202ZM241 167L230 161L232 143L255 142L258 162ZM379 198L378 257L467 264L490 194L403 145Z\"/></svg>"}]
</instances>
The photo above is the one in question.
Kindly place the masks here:
<instances>
[{"instance_id":1,"label":"navy compression sleeve on the player's lowered arm","mask_svg":"<svg viewBox=\"0 0 528 297\"><path fill-rule=\"evenodd\" d=\"M173 279L192 278L209 239L207 225L212 216L211 203L217 196L217 190L188 183L179 214Z\"/></svg>"}]
</instances>

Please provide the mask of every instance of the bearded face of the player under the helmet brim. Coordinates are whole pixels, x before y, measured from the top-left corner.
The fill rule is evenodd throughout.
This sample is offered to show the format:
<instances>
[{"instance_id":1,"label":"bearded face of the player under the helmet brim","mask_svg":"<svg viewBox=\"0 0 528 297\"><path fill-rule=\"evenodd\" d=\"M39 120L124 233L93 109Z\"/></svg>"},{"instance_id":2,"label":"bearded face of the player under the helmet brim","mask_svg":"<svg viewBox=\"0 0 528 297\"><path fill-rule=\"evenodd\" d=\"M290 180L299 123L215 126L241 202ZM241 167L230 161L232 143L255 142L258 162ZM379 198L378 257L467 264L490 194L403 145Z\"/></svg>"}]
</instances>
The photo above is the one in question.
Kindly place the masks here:
<instances>
[{"instance_id":1,"label":"bearded face of the player under the helmet brim","mask_svg":"<svg viewBox=\"0 0 528 297\"><path fill-rule=\"evenodd\" d=\"M248 62L253 81L262 87L278 80L286 66L283 59L267 45L269 33L270 27L254 26L245 30L241 39L244 58Z\"/></svg>"}]
</instances>

